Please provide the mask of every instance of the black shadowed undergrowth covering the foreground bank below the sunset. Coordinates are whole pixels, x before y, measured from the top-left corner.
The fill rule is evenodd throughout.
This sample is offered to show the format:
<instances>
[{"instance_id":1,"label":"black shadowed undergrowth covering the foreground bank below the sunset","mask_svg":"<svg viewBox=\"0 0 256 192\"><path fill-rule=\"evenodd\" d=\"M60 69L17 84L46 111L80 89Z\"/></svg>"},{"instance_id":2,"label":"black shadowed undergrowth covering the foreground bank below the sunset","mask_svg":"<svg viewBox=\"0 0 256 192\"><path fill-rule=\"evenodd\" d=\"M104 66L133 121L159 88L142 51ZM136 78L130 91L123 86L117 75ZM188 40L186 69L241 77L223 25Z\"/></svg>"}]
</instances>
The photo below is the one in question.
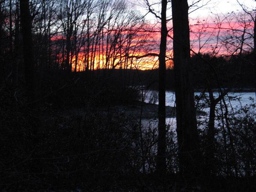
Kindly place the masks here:
<instances>
[{"instance_id":1,"label":"black shadowed undergrowth covering the foreground bank below the sunset","mask_svg":"<svg viewBox=\"0 0 256 192\"><path fill-rule=\"evenodd\" d=\"M23 76L16 86L2 82L2 191L255 190L253 111L244 108L242 118L217 116L225 125L215 129L212 160L206 158L207 128L200 130L200 147L206 158L202 167L210 174L189 180L180 180L177 175L176 133L167 127L167 172L159 176L155 173L157 127L153 119L142 127L140 116L125 116L114 108L140 107L135 101L140 99L141 87L135 85L150 87L157 79L148 78L150 81L145 83L145 77L154 76L157 71L134 73L140 74L140 78L129 75L134 86L128 86L127 79L121 81L123 76L118 73L117 70L111 76L92 80L86 78L86 73L67 75L49 70L37 78L36 101L30 103L26 100Z\"/></svg>"}]
</instances>

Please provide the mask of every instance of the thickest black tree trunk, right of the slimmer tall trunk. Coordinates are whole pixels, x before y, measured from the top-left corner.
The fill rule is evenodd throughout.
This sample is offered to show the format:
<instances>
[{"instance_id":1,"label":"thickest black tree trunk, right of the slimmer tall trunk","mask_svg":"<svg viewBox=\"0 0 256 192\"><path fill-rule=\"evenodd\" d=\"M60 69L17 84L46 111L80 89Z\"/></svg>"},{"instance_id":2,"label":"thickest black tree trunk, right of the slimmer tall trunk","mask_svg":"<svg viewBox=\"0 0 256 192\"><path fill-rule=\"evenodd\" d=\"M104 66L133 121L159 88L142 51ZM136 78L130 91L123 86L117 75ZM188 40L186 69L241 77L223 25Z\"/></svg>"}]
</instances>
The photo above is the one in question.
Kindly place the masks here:
<instances>
[{"instance_id":1,"label":"thickest black tree trunk, right of the slimmer tall trunk","mask_svg":"<svg viewBox=\"0 0 256 192\"><path fill-rule=\"evenodd\" d=\"M190 81L188 9L187 0L172 0L179 173L187 181L201 175L202 160Z\"/></svg>"}]
</instances>

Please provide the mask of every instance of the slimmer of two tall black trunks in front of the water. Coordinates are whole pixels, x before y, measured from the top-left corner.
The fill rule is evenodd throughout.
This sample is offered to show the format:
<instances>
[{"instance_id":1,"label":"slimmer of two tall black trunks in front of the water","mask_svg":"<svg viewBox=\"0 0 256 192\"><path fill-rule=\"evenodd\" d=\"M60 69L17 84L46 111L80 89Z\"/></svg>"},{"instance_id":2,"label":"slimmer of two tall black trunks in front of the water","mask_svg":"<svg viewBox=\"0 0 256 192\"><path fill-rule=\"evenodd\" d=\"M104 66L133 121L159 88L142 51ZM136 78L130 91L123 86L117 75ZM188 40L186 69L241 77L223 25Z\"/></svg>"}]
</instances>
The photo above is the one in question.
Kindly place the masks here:
<instances>
[{"instance_id":1,"label":"slimmer of two tall black trunks in front of the water","mask_svg":"<svg viewBox=\"0 0 256 192\"><path fill-rule=\"evenodd\" d=\"M161 42L159 53L159 105L158 105L158 148L157 172L164 175L166 172L166 7L167 0L162 0L161 12Z\"/></svg>"}]
</instances>

